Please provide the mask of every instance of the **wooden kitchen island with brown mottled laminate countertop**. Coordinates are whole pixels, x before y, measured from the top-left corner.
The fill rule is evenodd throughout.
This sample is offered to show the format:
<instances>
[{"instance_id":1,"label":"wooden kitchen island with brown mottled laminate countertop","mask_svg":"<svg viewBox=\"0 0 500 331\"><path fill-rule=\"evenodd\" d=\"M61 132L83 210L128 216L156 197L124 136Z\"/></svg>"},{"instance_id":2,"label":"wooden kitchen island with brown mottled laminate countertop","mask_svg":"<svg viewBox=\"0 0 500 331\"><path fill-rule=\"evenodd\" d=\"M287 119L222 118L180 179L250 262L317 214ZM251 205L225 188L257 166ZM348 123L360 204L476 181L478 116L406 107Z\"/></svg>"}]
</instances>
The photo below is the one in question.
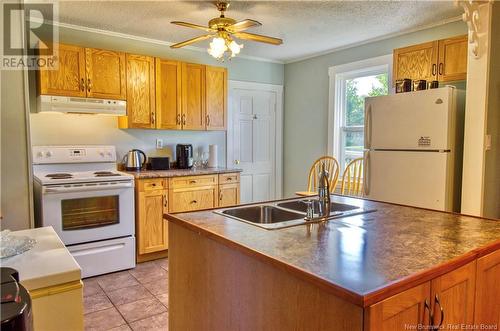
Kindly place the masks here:
<instances>
[{"instance_id":1,"label":"wooden kitchen island with brown mottled laminate countertop","mask_svg":"<svg viewBox=\"0 0 500 331\"><path fill-rule=\"evenodd\" d=\"M277 230L166 215L170 329L500 327L500 221L332 201L375 211Z\"/></svg>"}]
</instances>

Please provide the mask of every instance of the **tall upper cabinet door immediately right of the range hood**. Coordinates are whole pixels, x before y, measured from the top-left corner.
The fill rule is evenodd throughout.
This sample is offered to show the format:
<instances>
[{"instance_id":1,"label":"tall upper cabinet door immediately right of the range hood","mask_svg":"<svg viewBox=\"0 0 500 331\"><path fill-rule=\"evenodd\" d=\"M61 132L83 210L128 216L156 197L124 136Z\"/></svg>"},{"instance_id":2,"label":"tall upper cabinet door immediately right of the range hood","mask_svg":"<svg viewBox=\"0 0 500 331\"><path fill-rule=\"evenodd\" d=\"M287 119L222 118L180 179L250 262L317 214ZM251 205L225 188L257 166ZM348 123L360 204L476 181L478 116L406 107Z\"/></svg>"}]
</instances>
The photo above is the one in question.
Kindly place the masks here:
<instances>
[{"instance_id":1,"label":"tall upper cabinet door immediately right of the range hood","mask_svg":"<svg viewBox=\"0 0 500 331\"><path fill-rule=\"evenodd\" d=\"M154 58L127 54L127 117L129 128L155 127Z\"/></svg>"}]
</instances>

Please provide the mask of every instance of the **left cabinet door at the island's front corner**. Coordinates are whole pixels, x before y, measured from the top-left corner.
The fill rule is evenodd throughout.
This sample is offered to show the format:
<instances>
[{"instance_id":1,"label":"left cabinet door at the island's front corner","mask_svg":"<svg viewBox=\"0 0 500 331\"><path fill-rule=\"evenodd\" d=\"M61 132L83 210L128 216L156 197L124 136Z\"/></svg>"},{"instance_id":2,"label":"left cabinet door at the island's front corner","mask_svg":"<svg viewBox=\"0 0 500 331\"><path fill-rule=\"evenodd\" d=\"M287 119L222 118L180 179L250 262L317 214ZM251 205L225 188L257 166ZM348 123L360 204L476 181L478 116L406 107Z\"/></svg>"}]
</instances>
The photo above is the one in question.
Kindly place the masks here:
<instances>
[{"instance_id":1,"label":"left cabinet door at the island's front corner","mask_svg":"<svg viewBox=\"0 0 500 331\"><path fill-rule=\"evenodd\" d=\"M365 331L418 330L429 323L429 282L396 294L365 310ZM430 307L429 307L430 308Z\"/></svg>"}]
</instances>

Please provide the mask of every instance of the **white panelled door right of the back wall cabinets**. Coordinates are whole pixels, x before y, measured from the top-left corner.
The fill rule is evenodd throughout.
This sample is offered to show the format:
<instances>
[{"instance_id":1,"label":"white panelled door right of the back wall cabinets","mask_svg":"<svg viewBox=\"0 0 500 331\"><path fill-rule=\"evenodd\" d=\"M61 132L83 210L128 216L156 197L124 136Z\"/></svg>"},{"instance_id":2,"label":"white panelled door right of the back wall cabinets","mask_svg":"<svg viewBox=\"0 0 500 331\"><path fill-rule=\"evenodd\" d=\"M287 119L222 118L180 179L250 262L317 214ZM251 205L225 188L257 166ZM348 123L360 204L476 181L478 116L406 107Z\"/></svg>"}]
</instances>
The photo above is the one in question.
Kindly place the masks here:
<instances>
[{"instance_id":1,"label":"white panelled door right of the back wall cabinets","mask_svg":"<svg viewBox=\"0 0 500 331\"><path fill-rule=\"evenodd\" d=\"M232 87L228 167L240 168L241 203L275 199L277 93Z\"/></svg>"}]
</instances>

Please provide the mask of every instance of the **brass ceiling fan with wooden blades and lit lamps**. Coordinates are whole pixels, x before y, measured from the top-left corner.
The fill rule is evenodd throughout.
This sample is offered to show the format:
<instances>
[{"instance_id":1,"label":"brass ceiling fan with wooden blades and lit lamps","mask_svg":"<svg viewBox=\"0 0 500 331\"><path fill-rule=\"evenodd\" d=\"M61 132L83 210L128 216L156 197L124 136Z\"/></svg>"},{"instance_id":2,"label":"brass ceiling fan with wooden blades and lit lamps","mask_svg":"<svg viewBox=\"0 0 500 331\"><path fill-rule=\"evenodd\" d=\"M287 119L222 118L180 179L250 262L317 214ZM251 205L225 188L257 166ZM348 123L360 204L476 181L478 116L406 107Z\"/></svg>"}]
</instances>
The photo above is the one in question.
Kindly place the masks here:
<instances>
[{"instance_id":1,"label":"brass ceiling fan with wooden blades and lit lamps","mask_svg":"<svg viewBox=\"0 0 500 331\"><path fill-rule=\"evenodd\" d=\"M226 52L230 52L230 56L234 57L243 48L243 45L236 43L233 38L258 41L271 45L281 45L283 43L283 40L279 38L244 32L249 28L261 26L262 24L251 19L237 22L236 20L224 15L229 7L229 2L217 1L214 4L217 7L217 10L220 11L220 16L208 21L208 26L180 21L171 22L175 25L203 30L205 32L209 32L208 34L185 40L183 42L171 45L170 47L181 48L202 40L213 38L212 42L210 43L210 47L208 48L208 53L216 59L224 59L224 55L226 54Z\"/></svg>"}]
</instances>

